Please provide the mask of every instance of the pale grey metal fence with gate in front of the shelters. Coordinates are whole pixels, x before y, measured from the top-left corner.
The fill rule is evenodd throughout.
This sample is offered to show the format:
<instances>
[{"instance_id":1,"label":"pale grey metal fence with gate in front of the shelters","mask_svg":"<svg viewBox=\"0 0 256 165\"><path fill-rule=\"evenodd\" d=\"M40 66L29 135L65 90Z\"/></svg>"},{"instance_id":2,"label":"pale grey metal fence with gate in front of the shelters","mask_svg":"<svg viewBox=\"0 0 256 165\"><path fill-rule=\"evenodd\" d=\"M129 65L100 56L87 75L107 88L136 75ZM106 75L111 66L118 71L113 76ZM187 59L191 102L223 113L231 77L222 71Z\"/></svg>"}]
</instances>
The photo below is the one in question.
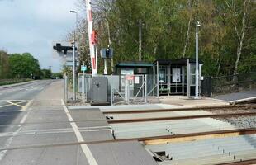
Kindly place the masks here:
<instances>
[{"instance_id":1,"label":"pale grey metal fence with gate in front of the shelters","mask_svg":"<svg viewBox=\"0 0 256 165\"><path fill-rule=\"evenodd\" d=\"M157 75L97 75L93 78L107 78L107 101L111 105L140 104L159 101ZM92 102L93 84L91 74L78 74L77 101ZM71 101L72 85L64 76L64 100Z\"/></svg>"}]
</instances>

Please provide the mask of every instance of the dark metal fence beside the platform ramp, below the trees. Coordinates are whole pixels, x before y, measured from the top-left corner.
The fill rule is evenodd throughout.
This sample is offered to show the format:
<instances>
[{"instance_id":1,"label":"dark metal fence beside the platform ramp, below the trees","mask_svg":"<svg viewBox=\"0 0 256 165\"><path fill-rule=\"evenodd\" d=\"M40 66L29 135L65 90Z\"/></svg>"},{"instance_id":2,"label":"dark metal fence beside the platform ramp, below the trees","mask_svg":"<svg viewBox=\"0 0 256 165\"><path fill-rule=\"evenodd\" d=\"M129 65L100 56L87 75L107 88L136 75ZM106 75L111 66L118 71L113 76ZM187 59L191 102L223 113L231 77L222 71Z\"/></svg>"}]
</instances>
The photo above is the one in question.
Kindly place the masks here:
<instances>
[{"instance_id":1,"label":"dark metal fence beside the platform ramp, below the trees","mask_svg":"<svg viewBox=\"0 0 256 165\"><path fill-rule=\"evenodd\" d=\"M256 72L205 78L201 90L205 97L256 88Z\"/></svg>"}]
</instances>

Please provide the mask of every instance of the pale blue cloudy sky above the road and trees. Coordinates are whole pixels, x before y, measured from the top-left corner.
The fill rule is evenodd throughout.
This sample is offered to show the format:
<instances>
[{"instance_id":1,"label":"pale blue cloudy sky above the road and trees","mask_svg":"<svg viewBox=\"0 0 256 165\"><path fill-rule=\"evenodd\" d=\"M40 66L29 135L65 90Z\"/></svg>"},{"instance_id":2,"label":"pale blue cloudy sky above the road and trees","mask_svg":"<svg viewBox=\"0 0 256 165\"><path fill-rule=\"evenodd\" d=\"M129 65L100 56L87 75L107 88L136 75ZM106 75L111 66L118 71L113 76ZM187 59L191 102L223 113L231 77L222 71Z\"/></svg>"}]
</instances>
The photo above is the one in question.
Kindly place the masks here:
<instances>
[{"instance_id":1,"label":"pale blue cloudy sky above the road and trees","mask_svg":"<svg viewBox=\"0 0 256 165\"><path fill-rule=\"evenodd\" d=\"M0 0L0 50L31 53L40 68L59 72L62 59L53 54L52 42L64 40L75 28L77 0ZM84 16L83 16L84 17Z\"/></svg>"}]
</instances>

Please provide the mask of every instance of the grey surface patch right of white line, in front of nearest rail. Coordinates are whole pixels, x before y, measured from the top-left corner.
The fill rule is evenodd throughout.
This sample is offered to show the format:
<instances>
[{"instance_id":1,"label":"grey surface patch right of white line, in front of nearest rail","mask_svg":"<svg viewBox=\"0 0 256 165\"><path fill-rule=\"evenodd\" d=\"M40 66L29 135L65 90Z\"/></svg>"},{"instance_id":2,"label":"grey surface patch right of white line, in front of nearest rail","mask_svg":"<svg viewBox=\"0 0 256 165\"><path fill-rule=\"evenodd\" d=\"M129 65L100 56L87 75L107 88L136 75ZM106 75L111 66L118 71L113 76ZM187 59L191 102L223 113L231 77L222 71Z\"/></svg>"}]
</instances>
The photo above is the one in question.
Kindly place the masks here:
<instances>
[{"instance_id":1,"label":"grey surface patch right of white line, in front of nearest rail","mask_svg":"<svg viewBox=\"0 0 256 165\"><path fill-rule=\"evenodd\" d=\"M88 144L98 165L157 165L145 148L136 141Z\"/></svg>"}]
</instances>

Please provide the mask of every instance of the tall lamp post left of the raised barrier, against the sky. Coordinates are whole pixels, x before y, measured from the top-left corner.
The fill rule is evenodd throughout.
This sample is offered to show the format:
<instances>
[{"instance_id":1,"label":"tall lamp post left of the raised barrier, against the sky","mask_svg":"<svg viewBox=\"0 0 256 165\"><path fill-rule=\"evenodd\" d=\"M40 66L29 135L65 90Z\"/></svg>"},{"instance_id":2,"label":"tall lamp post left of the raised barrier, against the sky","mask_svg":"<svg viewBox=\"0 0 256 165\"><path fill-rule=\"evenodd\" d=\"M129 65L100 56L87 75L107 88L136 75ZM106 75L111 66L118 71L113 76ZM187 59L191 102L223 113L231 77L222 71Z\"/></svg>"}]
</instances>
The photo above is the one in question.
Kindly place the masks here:
<instances>
[{"instance_id":1,"label":"tall lamp post left of the raised barrier, against the sky","mask_svg":"<svg viewBox=\"0 0 256 165\"><path fill-rule=\"evenodd\" d=\"M76 29L74 30L74 35L73 35L73 101L75 101L76 100L75 45L76 45L76 31L78 30L78 12L75 12L75 11L70 11L70 12L76 14Z\"/></svg>"}]
</instances>

